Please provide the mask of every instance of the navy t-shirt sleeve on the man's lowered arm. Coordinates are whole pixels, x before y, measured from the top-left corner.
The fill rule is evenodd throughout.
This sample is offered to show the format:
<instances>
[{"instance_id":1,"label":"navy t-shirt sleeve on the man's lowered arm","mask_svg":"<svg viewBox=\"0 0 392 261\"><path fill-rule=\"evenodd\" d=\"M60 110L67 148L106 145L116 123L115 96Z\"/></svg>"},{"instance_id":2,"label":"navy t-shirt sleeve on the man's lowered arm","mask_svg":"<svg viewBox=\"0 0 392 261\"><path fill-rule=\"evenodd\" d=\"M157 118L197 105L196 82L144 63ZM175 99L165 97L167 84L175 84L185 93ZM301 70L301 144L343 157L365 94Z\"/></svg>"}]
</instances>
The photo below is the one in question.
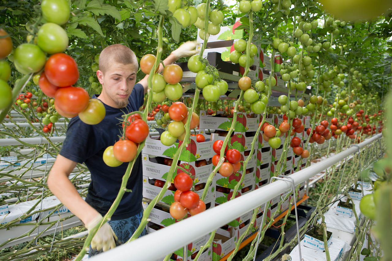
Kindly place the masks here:
<instances>
[{"instance_id":1,"label":"navy t-shirt sleeve on the man's lowered arm","mask_svg":"<svg viewBox=\"0 0 392 261\"><path fill-rule=\"evenodd\" d=\"M59 154L74 162L82 164L101 149L97 148L100 137L96 137L94 126L85 124L78 116L71 119L65 135Z\"/></svg>"}]
</instances>

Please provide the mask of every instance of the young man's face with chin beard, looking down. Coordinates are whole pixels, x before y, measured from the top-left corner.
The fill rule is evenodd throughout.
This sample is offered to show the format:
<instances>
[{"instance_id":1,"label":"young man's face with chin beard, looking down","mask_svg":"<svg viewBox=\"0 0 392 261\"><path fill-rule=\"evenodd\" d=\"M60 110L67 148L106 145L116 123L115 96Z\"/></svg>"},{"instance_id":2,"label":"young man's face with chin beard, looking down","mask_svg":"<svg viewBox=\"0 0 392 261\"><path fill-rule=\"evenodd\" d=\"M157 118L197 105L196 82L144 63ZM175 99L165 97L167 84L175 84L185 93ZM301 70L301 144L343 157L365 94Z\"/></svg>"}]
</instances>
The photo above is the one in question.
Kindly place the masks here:
<instances>
[{"instance_id":1,"label":"young man's face with chin beard, looking down","mask_svg":"<svg viewBox=\"0 0 392 261\"><path fill-rule=\"evenodd\" d=\"M136 82L137 67L128 64L112 63L103 75L97 72L98 80L102 84L99 98L114 108L124 108L128 104L129 95ZM102 97L101 97L102 96Z\"/></svg>"}]
</instances>

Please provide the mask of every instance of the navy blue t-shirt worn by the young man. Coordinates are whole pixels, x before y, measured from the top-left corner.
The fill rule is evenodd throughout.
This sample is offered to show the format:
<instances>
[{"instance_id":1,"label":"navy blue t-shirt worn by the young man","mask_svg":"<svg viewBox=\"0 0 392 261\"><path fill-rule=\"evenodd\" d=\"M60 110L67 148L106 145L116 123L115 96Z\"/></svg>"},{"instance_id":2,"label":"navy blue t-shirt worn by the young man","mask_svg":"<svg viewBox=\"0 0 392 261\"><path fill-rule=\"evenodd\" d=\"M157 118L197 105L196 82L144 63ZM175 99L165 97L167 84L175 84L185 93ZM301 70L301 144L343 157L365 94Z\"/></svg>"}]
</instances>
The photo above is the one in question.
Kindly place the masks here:
<instances>
[{"instance_id":1,"label":"navy blue t-shirt worn by the young man","mask_svg":"<svg viewBox=\"0 0 392 261\"><path fill-rule=\"evenodd\" d=\"M105 105L105 118L96 125L82 122L78 116L71 119L60 155L78 163L85 163L91 172L91 183L86 202L102 215L109 211L118 191L122 177L127 170L125 162L118 167L109 167L103 162L103 151L113 146L122 134L122 115L139 110L143 105L143 86L137 83L125 108L113 108ZM99 95L98 95L99 96ZM96 98L96 95L93 96ZM127 182L127 189L112 220L129 218L142 211L142 158L137 158Z\"/></svg>"}]
</instances>

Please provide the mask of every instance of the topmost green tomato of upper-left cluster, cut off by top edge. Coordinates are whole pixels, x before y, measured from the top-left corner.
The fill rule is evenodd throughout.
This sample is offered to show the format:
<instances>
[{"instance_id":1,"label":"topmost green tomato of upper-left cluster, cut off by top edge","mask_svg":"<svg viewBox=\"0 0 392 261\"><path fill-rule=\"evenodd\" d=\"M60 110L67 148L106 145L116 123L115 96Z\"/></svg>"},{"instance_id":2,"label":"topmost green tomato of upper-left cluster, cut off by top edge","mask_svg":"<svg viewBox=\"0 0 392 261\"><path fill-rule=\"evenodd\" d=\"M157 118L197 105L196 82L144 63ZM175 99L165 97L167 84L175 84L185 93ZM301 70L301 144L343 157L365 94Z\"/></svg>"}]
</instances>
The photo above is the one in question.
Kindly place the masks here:
<instances>
[{"instance_id":1,"label":"topmost green tomato of upper-left cluster, cut off by top edge","mask_svg":"<svg viewBox=\"0 0 392 261\"><path fill-rule=\"evenodd\" d=\"M57 23L58 25L68 22L71 13L68 0L43 0L41 10L46 22Z\"/></svg>"}]
</instances>

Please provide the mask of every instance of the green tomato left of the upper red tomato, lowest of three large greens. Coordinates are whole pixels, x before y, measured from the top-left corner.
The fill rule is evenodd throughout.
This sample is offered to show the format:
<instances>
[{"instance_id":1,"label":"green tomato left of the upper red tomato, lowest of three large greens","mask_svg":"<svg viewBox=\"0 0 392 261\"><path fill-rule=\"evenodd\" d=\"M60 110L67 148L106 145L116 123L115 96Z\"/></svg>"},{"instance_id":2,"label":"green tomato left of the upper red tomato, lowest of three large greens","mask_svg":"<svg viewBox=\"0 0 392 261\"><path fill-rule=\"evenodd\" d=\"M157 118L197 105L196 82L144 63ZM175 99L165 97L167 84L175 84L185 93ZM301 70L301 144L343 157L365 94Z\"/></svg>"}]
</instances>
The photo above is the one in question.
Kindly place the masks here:
<instances>
[{"instance_id":1,"label":"green tomato left of the upper red tomato, lowest of three large greens","mask_svg":"<svg viewBox=\"0 0 392 261\"><path fill-rule=\"evenodd\" d=\"M46 63L45 53L38 45L24 43L18 46L14 52L16 69L22 74L39 72Z\"/></svg>"}]
</instances>

